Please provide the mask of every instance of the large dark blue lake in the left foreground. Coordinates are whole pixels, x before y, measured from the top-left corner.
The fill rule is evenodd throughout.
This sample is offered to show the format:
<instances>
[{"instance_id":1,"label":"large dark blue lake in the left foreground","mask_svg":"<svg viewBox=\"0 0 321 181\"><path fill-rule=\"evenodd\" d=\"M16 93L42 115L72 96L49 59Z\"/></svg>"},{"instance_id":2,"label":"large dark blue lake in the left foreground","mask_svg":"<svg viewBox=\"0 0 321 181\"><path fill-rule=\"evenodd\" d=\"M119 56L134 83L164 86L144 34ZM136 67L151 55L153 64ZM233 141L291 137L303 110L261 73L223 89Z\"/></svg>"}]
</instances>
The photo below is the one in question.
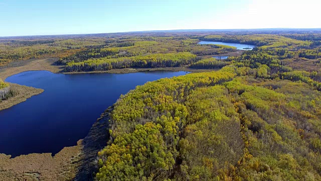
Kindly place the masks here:
<instances>
[{"instance_id":1,"label":"large dark blue lake in the left foreground","mask_svg":"<svg viewBox=\"0 0 321 181\"><path fill-rule=\"evenodd\" d=\"M58 153L83 139L93 123L121 94L136 85L185 71L146 71L127 74L55 74L27 71L6 79L45 91L0 111L0 153Z\"/></svg>"}]
</instances>

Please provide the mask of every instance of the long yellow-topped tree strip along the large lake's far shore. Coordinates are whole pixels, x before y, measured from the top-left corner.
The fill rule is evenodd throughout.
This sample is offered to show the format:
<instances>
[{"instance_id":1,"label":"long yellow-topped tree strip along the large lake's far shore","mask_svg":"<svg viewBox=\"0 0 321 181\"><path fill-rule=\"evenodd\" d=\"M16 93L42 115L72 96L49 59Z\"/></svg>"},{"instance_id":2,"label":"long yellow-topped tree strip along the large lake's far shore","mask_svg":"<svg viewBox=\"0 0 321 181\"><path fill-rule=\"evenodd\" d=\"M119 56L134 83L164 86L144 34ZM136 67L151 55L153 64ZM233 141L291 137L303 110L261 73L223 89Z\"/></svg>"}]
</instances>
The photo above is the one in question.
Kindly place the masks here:
<instances>
[{"instance_id":1,"label":"long yellow-topped tree strip along the large lake's far shore","mask_svg":"<svg viewBox=\"0 0 321 181\"><path fill-rule=\"evenodd\" d=\"M125 58L100 58L82 62L69 62L65 71L111 70L115 68L155 68L178 67L188 65L198 60L196 55L189 52L151 54Z\"/></svg>"}]
</instances>

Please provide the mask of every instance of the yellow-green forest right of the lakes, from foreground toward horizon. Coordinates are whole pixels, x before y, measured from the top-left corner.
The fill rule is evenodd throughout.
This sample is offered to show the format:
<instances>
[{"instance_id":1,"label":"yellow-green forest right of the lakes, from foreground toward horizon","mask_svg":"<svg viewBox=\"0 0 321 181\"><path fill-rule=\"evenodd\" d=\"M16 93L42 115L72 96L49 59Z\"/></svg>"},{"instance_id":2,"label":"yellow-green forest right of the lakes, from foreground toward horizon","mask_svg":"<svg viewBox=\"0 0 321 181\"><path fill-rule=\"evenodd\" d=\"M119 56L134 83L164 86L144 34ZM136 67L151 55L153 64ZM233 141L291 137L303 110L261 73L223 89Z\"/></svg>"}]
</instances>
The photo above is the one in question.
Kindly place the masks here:
<instances>
[{"instance_id":1,"label":"yellow-green forest right of the lakes, from foreground toward horizon","mask_svg":"<svg viewBox=\"0 0 321 181\"><path fill-rule=\"evenodd\" d=\"M199 40L257 47L225 60L199 57L189 67L221 70L121 96L96 179L321 180L320 65L287 64L319 62L319 43L275 35Z\"/></svg>"}]
</instances>

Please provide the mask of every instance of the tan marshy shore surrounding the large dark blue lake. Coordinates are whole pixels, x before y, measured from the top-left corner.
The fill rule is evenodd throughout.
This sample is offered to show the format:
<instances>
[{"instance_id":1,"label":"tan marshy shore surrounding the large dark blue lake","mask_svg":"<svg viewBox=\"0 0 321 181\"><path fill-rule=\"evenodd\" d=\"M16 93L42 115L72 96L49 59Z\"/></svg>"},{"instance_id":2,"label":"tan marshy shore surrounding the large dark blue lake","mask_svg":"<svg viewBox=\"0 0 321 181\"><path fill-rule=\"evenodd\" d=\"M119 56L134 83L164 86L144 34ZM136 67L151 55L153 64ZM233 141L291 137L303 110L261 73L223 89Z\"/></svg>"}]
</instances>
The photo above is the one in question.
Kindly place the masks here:
<instances>
[{"instance_id":1,"label":"tan marshy shore surrounding the large dark blue lake","mask_svg":"<svg viewBox=\"0 0 321 181\"><path fill-rule=\"evenodd\" d=\"M79 73L134 73L142 71L186 71L186 72L206 72L217 69L192 69L187 66L182 67L159 67L159 68L124 68L106 71L85 71L85 72L61 72L62 67L53 65L55 58L30 60L16 67L0 69L0 78L4 80L12 75L24 71L46 70L52 73L79 74ZM9 82L10 83L10 82ZM0 103L0 111L8 109L14 105L26 101L32 96L44 92L43 89L25 85L10 83L11 86L19 88L19 95ZM15 100L15 101L13 101ZM3 106L4 102L6 106ZM64 147L54 156L51 153L30 153L11 158L11 155L0 153L0 179L77 179L91 180L92 173L96 169L96 157L107 144L108 116L112 107L108 108L101 117L90 128L87 136L80 139L77 145ZM104 134L102 134L104 133ZM16 165L16 166L14 166ZM49 167L53 170L48 171ZM84 179L85 178L85 179Z\"/></svg>"}]
</instances>

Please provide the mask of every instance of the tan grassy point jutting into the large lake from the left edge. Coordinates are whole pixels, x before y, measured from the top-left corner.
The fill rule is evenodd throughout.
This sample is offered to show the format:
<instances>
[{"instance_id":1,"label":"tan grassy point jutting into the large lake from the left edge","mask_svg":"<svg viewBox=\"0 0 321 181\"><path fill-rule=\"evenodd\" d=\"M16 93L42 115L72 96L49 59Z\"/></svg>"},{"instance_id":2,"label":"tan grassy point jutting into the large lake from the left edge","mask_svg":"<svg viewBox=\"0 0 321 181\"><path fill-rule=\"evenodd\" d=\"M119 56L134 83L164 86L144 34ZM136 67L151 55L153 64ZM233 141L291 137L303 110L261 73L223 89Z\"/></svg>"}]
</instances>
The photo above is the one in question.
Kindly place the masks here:
<instances>
[{"instance_id":1,"label":"tan grassy point jutting into the large lake from the left edge","mask_svg":"<svg viewBox=\"0 0 321 181\"><path fill-rule=\"evenodd\" d=\"M10 83L10 87L18 94L15 97L9 98L8 100L0 102L0 111L8 109L14 105L26 101L32 96L39 95L44 92L41 88L34 88L25 85L19 85L16 83Z\"/></svg>"}]
</instances>

